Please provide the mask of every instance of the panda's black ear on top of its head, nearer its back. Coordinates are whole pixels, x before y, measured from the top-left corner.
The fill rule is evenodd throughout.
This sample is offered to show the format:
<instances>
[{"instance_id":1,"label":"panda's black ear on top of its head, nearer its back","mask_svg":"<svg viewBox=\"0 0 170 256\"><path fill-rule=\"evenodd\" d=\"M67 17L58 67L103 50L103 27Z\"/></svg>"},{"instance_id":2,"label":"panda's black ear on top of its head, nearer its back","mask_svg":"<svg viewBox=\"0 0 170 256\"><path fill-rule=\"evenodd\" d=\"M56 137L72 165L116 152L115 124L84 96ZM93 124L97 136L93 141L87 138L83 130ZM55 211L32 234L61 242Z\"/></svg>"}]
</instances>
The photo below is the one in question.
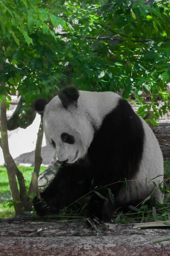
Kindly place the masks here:
<instances>
[{"instance_id":1,"label":"panda's black ear on top of its head, nearer its back","mask_svg":"<svg viewBox=\"0 0 170 256\"><path fill-rule=\"evenodd\" d=\"M75 87L66 87L58 93L59 99L64 108L70 105L77 107L77 100L79 98L79 91Z\"/></svg>"}]
</instances>

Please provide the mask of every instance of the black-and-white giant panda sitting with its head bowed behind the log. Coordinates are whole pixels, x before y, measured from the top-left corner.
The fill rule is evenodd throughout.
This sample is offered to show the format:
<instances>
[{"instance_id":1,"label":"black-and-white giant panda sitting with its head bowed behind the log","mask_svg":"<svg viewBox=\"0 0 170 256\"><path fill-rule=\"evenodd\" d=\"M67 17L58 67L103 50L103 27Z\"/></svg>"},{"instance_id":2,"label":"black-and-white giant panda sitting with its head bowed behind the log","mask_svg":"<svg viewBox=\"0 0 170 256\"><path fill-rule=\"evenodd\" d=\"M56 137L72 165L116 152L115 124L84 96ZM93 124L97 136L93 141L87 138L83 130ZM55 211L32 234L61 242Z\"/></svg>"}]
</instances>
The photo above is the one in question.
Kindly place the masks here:
<instances>
[{"instance_id":1,"label":"black-and-white giant panda sitting with its head bowed behind the log","mask_svg":"<svg viewBox=\"0 0 170 256\"><path fill-rule=\"evenodd\" d=\"M162 203L159 143L125 99L113 92L65 87L48 104L39 99L34 106L43 114L46 139L61 164L41 201L33 200L38 215L58 213L94 188L103 197L91 193L88 216L103 221L111 221L118 207L136 206L148 195Z\"/></svg>"}]
</instances>

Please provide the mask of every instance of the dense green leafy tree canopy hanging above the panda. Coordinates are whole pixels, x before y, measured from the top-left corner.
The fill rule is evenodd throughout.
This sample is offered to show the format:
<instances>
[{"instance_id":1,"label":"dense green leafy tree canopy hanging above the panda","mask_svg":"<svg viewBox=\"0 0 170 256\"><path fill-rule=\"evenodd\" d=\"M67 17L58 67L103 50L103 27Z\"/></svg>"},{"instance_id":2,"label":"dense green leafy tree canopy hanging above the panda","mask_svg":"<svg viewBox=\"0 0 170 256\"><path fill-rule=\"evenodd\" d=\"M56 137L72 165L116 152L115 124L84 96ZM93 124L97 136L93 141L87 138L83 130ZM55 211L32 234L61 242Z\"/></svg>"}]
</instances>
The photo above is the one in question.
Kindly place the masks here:
<instances>
[{"instance_id":1,"label":"dense green leafy tree canopy hanging above the panda","mask_svg":"<svg viewBox=\"0 0 170 256\"><path fill-rule=\"evenodd\" d=\"M150 111L158 119L170 109L169 1L5 0L0 17L1 79L26 104L74 84L123 90L124 98L135 92L142 117ZM151 103L143 102L143 90Z\"/></svg>"}]
</instances>

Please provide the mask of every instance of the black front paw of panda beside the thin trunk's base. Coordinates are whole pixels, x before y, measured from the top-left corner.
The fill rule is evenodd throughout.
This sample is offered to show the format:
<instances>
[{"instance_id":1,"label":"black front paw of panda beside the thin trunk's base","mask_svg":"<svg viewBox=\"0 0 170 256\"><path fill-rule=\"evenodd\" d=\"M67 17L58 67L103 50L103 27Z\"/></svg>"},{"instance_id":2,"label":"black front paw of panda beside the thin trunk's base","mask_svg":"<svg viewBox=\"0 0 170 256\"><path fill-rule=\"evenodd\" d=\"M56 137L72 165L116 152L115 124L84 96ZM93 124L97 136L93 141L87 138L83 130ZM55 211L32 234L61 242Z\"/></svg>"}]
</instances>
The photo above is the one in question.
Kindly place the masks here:
<instances>
[{"instance_id":1,"label":"black front paw of panda beside the thin trunk's base","mask_svg":"<svg viewBox=\"0 0 170 256\"><path fill-rule=\"evenodd\" d=\"M47 205L47 203L45 202L45 200L43 198L41 198L41 200L39 200L37 198L37 196L35 196L32 203L33 203L35 211L37 212L37 214L39 216L44 216L44 215L49 214L50 207Z\"/></svg>"}]
</instances>

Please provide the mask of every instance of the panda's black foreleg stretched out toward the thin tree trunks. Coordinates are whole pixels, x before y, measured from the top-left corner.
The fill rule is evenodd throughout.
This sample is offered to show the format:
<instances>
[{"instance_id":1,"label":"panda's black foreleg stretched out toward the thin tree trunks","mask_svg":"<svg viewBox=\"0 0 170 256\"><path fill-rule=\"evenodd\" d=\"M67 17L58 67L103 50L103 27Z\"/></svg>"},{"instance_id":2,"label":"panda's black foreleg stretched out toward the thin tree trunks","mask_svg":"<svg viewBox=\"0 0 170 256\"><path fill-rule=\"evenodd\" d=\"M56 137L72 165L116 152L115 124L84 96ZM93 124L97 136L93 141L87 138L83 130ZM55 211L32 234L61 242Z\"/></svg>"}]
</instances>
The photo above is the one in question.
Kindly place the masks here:
<instances>
[{"instance_id":1,"label":"panda's black foreleg stretched out toward the thin tree trunks","mask_svg":"<svg viewBox=\"0 0 170 256\"><path fill-rule=\"evenodd\" d=\"M63 165L47 186L40 193L41 200L33 199L33 205L38 215L58 213L60 209L70 206L78 198L88 193L90 184L85 180L85 167L79 165Z\"/></svg>"}]
</instances>

